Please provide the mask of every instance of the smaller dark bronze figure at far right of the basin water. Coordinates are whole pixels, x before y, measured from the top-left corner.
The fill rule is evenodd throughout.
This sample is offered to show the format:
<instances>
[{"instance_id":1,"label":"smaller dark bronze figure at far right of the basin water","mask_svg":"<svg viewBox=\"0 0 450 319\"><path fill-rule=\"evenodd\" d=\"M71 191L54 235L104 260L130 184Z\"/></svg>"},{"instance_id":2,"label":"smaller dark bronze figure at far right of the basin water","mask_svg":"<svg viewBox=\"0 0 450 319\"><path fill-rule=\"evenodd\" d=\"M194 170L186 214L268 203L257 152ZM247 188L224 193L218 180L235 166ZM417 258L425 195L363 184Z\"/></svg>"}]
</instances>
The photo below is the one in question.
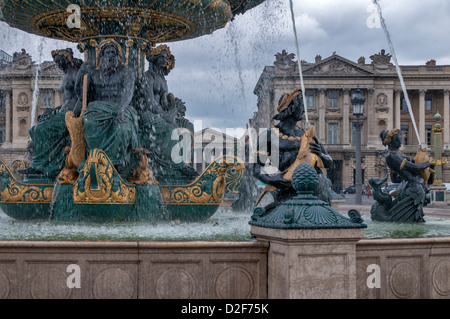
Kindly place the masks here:
<instances>
[{"instance_id":1,"label":"smaller dark bronze figure at far right of the basin water","mask_svg":"<svg viewBox=\"0 0 450 319\"><path fill-rule=\"evenodd\" d=\"M390 169L391 180L399 183L397 191L387 194L381 190L381 185L387 180L371 179L373 197L377 201L372 206L371 216L376 221L391 222L424 222L423 207L427 204L429 189L422 174L429 170L430 162L413 163L411 159L400 152L402 134L399 129L383 130L380 133L383 145L388 147L386 164ZM429 175L428 175L429 176Z\"/></svg>"}]
</instances>

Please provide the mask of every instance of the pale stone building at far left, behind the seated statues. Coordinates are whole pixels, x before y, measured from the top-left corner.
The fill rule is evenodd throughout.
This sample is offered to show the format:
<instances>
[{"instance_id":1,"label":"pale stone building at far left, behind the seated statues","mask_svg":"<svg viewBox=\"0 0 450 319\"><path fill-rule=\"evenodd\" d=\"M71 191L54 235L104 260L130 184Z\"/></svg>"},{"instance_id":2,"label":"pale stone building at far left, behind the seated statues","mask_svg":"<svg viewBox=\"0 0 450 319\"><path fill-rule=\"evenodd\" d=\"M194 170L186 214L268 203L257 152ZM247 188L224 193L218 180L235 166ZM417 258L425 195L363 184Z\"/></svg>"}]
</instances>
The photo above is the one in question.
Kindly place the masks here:
<instances>
[{"instance_id":1,"label":"pale stone building at far left, behind the seated statues","mask_svg":"<svg viewBox=\"0 0 450 319\"><path fill-rule=\"evenodd\" d=\"M9 165L23 159L37 116L61 105L64 74L54 62L36 64L25 50L0 51L0 59L0 157Z\"/></svg>"}]
</instances>

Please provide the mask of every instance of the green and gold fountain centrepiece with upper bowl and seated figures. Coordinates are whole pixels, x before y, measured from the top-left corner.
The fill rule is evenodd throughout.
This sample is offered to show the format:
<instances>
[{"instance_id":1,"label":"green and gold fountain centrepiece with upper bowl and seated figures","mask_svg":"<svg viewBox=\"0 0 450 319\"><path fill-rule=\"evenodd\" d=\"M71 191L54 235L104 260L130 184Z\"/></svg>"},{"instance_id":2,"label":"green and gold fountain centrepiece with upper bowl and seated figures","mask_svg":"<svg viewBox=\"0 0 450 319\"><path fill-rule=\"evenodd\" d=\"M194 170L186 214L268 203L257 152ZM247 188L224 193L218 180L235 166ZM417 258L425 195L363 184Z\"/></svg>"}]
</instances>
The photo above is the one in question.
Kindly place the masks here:
<instances>
[{"instance_id":1,"label":"green and gold fountain centrepiece with upper bowl and seated figures","mask_svg":"<svg viewBox=\"0 0 450 319\"><path fill-rule=\"evenodd\" d=\"M244 165L223 156L199 175L189 159L174 163L171 151L179 141L172 133L190 138L193 125L180 113L184 102L165 84L175 59L167 45L156 45L210 34L261 2L89 0L67 8L62 0L2 1L11 27L78 43L85 61L77 63L68 50L52 53L66 73L64 83L71 83L63 87L73 89L30 130L29 167L15 163L27 168L14 171L0 159L1 209L19 220L69 222L212 216L225 189L236 192ZM60 129L49 136L48 127Z\"/></svg>"}]
</instances>

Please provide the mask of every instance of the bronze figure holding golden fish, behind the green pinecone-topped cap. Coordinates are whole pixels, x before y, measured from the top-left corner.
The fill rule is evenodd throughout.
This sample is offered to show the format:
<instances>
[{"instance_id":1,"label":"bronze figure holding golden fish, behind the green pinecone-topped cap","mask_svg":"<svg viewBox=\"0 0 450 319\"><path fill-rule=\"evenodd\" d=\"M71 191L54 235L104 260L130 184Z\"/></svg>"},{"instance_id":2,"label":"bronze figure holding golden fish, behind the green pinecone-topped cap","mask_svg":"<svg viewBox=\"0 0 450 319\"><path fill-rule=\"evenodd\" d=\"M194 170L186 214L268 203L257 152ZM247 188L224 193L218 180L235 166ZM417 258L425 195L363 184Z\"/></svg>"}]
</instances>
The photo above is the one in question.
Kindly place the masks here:
<instances>
[{"instance_id":1,"label":"bronze figure holding golden fish, behind the green pinecone-topped cap","mask_svg":"<svg viewBox=\"0 0 450 319\"><path fill-rule=\"evenodd\" d=\"M295 90L292 94L283 95L277 109L279 113L273 117L279 123L258 138L259 156L257 163L253 164L253 174L258 180L267 185L260 199L265 193L272 192L275 200L265 207L266 212L296 195L291 184L292 173L301 162L310 163L319 173L319 187L316 189L315 194L322 200L329 202L329 180L322 174L321 169L330 168L333 160L315 136L314 126L311 126L306 131L297 126L297 123L303 119L304 115L302 99L303 95L300 89ZM277 154L270 154L274 136L278 138L277 142L279 145L279 172L275 175L269 175L263 171L263 167L265 166L266 156L277 156ZM260 149L261 139L266 139L267 150Z\"/></svg>"}]
</instances>

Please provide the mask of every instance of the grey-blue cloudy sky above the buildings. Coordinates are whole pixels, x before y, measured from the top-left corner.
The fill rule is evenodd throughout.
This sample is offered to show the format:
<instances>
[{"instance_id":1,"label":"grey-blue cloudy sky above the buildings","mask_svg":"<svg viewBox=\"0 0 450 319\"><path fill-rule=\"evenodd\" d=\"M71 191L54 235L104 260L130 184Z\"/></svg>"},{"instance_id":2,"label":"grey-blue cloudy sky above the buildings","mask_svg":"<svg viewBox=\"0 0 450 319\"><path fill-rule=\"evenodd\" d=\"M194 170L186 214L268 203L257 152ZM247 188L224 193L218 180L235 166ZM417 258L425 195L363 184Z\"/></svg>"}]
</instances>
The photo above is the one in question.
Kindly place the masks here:
<instances>
[{"instance_id":1,"label":"grey-blue cloudy sky above the buildings","mask_svg":"<svg viewBox=\"0 0 450 319\"><path fill-rule=\"evenodd\" d=\"M380 0L401 65L430 59L450 64L450 1ZM382 29L371 24L371 0L294 0L300 58L314 61L337 54L357 61L381 49L389 52ZM0 22L0 49L25 48L37 62L51 60L55 48L73 44L25 34ZM169 43L176 58L169 90L186 102L196 129L245 128L256 111L253 89L264 66L283 49L296 53L289 0L266 0L224 29L194 40ZM81 55L80 55L81 57ZM369 60L370 61L370 60Z\"/></svg>"}]
</instances>

